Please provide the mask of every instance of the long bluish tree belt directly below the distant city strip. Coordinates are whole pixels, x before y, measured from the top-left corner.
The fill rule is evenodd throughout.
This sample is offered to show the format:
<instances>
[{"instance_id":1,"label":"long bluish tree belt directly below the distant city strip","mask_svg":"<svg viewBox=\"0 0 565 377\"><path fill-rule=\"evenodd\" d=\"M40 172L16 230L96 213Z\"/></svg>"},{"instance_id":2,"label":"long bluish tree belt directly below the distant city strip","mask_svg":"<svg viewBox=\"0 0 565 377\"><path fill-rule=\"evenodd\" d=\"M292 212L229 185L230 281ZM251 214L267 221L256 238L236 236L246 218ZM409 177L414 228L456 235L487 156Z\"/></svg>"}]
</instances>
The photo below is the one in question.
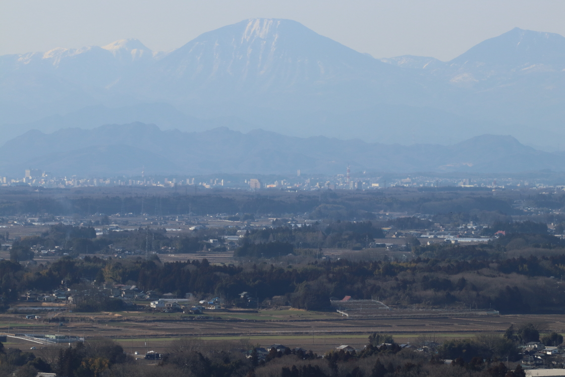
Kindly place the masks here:
<instances>
[{"instance_id":1,"label":"long bluish tree belt directly below the distant city strip","mask_svg":"<svg viewBox=\"0 0 565 377\"><path fill-rule=\"evenodd\" d=\"M108 191L112 189L108 188ZM192 189L191 189L192 190ZM387 190L321 190L319 192L248 193L237 191L210 191L189 194L188 190L163 194L148 194L138 189L136 195L81 194L82 190L66 191L65 195L41 190L35 197L25 188L6 194L0 200L0 216L20 214L90 215L94 213L145 213L153 216L176 214L227 214L250 218L251 215L280 217L285 214L310 214L313 219L362 220L375 219L375 213L408 212L429 215L466 214L476 219L519 215L523 211L512 207L520 193L492 193L479 191L419 191L408 188ZM558 203L557 201L556 203ZM537 203L537 202L536 202ZM539 205L544 203L539 202ZM246 217L247 216L247 217ZM436 221L437 222L437 221ZM490 222L490 220L489 220Z\"/></svg>"}]
</instances>

